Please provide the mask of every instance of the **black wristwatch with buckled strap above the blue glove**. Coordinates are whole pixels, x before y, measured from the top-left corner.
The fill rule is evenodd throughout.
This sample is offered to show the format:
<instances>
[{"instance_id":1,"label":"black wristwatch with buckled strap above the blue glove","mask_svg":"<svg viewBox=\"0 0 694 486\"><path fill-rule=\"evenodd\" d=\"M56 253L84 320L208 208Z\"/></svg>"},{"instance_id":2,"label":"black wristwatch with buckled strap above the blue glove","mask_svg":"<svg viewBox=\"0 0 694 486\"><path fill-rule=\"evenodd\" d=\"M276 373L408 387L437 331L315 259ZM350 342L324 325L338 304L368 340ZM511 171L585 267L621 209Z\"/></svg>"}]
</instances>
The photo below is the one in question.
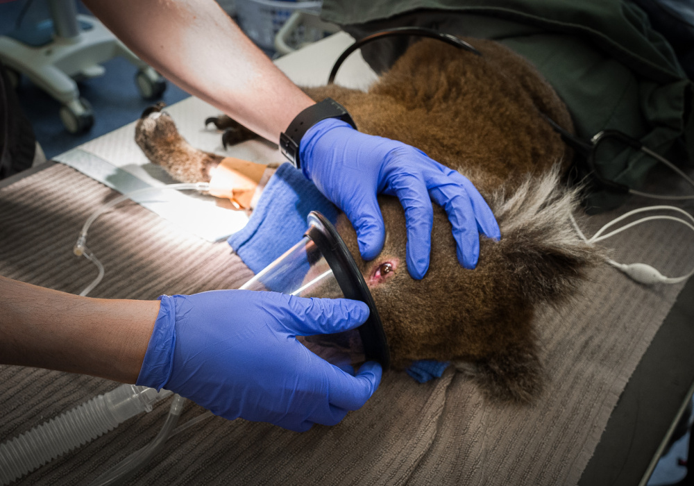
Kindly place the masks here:
<instances>
[{"instance_id":1,"label":"black wristwatch with buckled strap above the blue glove","mask_svg":"<svg viewBox=\"0 0 694 486\"><path fill-rule=\"evenodd\" d=\"M355 130L357 129L354 120L344 106L332 98L325 98L320 103L309 106L291 120L287 131L280 133L280 151L297 169L301 168L301 160L299 160L301 137L304 136L309 128L326 118L341 119L353 126Z\"/></svg>"}]
</instances>

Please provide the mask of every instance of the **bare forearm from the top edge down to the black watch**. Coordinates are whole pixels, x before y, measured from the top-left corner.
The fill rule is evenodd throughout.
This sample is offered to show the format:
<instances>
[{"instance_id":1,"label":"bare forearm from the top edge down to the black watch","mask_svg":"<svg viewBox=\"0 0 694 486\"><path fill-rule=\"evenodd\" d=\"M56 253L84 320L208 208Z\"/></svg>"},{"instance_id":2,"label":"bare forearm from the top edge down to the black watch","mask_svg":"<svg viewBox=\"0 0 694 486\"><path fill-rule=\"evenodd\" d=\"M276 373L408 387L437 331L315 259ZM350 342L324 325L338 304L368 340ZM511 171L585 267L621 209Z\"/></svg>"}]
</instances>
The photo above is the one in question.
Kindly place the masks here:
<instances>
[{"instance_id":1,"label":"bare forearm from the top edge down to the black watch","mask_svg":"<svg viewBox=\"0 0 694 486\"><path fill-rule=\"evenodd\" d=\"M213 0L85 0L142 60L268 140L314 103Z\"/></svg>"}]
</instances>

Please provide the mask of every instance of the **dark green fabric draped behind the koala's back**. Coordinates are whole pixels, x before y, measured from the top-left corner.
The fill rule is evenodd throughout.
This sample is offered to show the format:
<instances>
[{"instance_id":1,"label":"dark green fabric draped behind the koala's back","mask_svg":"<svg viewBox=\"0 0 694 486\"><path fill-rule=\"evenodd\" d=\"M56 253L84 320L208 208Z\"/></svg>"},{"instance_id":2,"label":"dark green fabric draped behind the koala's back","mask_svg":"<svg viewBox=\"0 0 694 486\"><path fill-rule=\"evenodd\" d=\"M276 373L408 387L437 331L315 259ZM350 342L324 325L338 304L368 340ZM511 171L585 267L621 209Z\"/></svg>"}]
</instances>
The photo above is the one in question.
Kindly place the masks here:
<instances>
[{"instance_id":1,"label":"dark green fabric draped behind the koala's back","mask_svg":"<svg viewBox=\"0 0 694 486\"><path fill-rule=\"evenodd\" d=\"M452 10L471 37L505 44L530 60L568 106L577 135L604 128L638 138L675 162L694 162L693 83L643 10L623 0L323 0L321 16L354 25L418 9ZM657 162L606 147L602 174L638 188ZM608 154L607 151L612 150ZM588 205L613 208L624 196L595 190Z\"/></svg>"}]
</instances>

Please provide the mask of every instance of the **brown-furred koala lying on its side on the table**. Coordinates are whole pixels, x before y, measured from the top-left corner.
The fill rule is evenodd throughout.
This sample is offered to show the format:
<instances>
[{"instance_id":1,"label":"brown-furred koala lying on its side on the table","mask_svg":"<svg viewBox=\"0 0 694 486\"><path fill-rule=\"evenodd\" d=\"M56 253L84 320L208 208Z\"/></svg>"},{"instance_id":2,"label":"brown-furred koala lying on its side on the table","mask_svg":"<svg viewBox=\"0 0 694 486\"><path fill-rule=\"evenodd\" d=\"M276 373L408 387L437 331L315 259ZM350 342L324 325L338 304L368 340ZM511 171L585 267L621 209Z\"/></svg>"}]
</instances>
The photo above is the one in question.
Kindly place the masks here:
<instances>
[{"instance_id":1,"label":"brown-furred koala lying on its side on the table","mask_svg":"<svg viewBox=\"0 0 694 486\"><path fill-rule=\"evenodd\" d=\"M414 280L397 199L379 198L386 241L371 261L359 257L356 233L339 217L337 229L382 318L391 366L450 361L490 399L527 403L541 392L544 373L534 315L570 298L599 258L568 219L578 206L578 190L563 180L572 153L544 118L573 131L566 106L520 56L489 40L467 41L482 56L423 40L368 92L337 85L305 91L341 103L360 131L415 146L459 171L500 226L501 239L481 237L477 267L464 269L446 212L434 205L430 268ZM227 128L225 145L256 136L228 117L210 121ZM135 138L180 181L209 181L222 158L189 146L157 110L138 121Z\"/></svg>"}]
</instances>

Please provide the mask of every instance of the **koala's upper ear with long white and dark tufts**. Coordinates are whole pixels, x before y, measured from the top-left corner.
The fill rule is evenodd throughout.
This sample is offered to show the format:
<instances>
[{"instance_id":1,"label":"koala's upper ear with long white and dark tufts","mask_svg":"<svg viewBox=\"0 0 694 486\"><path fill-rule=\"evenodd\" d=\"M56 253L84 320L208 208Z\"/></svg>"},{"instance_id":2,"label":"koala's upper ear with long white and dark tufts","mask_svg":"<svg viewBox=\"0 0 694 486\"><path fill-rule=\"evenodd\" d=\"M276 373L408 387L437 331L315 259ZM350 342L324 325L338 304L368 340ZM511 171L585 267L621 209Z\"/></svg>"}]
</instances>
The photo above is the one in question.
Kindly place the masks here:
<instances>
[{"instance_id":1,"label":"koala's upper ear with long white and dark tufts","mask_svg":"<svg viewBox=\"0 0 694 486\"><path fill-rule=\"evenodd\" d=\"M568 190L557 169L529 177L509 198L497 196L494 212L501 229L507 276L529 303L557 303L573 294L598 251L579 237L569 215L579 190Z\"/></svg>"}]
</instances>

